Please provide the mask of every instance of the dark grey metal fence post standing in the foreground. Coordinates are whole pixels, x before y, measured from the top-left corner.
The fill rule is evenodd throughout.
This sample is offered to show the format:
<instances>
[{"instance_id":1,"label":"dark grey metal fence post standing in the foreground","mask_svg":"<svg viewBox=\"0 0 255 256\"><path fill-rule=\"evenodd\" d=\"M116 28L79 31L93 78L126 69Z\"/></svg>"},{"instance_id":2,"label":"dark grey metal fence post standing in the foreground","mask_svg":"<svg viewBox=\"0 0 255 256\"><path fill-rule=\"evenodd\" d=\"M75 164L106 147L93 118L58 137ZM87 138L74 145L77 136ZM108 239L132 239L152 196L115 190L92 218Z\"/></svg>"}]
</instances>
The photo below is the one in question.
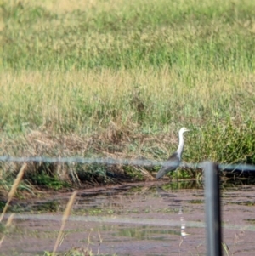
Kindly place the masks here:
<instances>
[{"instance_id":1,"label":"dark grey metal fence post standing in the foreground","mask_svg":"<svg viewBox=\"0 0 255 256\"><path fill-rule=\"evenodd\" d=\"M207 256L222 256L218 164L204 162L206 185Z\"/></svg>"}]
</instances>

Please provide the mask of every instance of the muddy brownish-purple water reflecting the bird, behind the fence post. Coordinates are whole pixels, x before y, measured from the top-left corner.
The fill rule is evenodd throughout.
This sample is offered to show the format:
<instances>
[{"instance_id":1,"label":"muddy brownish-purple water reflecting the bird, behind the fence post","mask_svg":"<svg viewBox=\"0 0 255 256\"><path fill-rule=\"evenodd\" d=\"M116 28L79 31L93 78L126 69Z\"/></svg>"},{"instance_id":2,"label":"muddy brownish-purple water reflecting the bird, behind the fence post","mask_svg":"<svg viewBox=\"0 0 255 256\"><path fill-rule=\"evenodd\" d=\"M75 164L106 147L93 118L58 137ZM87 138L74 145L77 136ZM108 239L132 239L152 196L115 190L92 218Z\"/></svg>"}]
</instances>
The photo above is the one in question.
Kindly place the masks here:
<instances>
[{"instance_id":1,"label":"muddy brownish-purple water reflecting the bird, behind the fence post","mask_svg":"<svg viewBox=\"0 0 255 256\"><path fill-rule=\"evenodd\" d=\"M200 184L151 183L79 191L59 252L205 255L204 191ZM52 251L71 193L22 202L0 255ZM222 185L225 255L253 255L255 185ZM85 254L84 254L85 255Z\"/></svg>"}]
</instances>

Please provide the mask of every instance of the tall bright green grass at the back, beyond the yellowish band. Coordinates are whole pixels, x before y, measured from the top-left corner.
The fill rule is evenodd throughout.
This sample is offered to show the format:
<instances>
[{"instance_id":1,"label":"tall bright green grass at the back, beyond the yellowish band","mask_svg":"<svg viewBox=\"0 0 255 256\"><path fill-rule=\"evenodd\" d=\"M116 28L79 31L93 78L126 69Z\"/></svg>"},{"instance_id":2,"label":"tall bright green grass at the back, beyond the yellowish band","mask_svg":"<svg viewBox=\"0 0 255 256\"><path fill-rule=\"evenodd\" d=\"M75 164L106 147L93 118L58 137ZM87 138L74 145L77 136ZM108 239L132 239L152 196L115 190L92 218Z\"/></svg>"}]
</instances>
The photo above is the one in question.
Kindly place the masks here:
<instances>
[{"instance_id":1,"label":"tall bright green grass at the back, beyond the yellowish band","mask_svg":"<svg viewBox=\"0 0 255 256\"><path fill-rule=\"evenodd\" d=\"M77 3L64 13L58 6L54 12L36 3L4 3L3 67L254 69L252 0L112 1L104 9L105 3L83 9Z\"/></svg>"}]
</instances>

